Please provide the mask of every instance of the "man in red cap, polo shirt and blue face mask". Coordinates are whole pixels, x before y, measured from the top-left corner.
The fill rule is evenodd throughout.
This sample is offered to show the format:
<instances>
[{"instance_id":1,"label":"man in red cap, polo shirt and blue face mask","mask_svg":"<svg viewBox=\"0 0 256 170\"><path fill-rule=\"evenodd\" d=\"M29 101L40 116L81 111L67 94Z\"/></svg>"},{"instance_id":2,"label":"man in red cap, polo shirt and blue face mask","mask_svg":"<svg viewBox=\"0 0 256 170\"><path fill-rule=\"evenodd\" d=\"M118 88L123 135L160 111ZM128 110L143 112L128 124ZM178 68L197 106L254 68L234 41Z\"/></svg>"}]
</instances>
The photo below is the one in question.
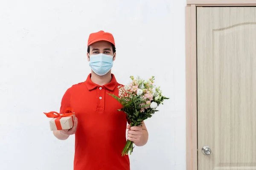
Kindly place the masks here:
<instances>
[{"instance_id":1,"label":"man in red cap, polo shirt and blue face mask","mask_svg":"<svg viewBox=\"0 0 256 170\"><path fill-rule=\"evenodd\" d=\"M126 114L117 111L122 105L109 95L119 93L120 84L111 74L115 59L113 35L104 31L90 34L87 60L91 73L86 81L68 88L61 100L60 113L71 107L76 119L71 129L53 133L60 140L75 134L74 170L130 170L128 155L121 154L126 143L126 128L128 139L135 145L147 143L145 123L138 127L126 126Z\"/></svg>"}]
</instances>

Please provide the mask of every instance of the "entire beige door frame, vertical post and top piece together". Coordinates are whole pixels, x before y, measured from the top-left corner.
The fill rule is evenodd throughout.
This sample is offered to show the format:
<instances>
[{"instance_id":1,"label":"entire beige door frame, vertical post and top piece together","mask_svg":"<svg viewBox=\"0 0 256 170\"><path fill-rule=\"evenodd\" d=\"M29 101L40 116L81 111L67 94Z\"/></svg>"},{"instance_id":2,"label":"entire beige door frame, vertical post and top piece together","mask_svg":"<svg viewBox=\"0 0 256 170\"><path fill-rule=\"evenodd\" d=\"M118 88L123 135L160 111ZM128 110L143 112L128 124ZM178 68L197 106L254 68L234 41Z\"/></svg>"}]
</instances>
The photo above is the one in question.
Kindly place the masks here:
<instances>
[{"instance_id":1,"label":"entire beige door frame, vertical post and top piece together","mask_svg":"<svg viewBox=\"0 0 256 170\"><path fill-rule=\"evenodd\" d=\"M197 34L198 6L256 6L256 0L186 0L186 170L198 170L197 134Z\"/></svg>"}]
</instances>

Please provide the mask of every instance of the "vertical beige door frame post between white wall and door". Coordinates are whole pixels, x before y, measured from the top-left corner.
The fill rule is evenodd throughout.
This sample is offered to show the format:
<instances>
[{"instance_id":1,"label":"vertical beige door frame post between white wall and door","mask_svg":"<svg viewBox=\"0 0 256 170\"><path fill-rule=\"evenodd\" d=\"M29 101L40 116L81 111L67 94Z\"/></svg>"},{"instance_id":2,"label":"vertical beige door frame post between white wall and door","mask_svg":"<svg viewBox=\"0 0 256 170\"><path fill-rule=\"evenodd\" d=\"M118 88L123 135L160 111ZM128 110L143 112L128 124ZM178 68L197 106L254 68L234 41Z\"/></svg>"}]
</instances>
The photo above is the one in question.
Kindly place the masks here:
<instances>
[{"instance_id":1,"label":"vertical beige door frame post between white wall and door","mask_svg":"<svg viewBox=\"0 0 256 170\"><path fill-rule=\"evenodd\" d=\"M196 7L186 7L186 169L197 170Z\"/></svg>"}]
</instances>

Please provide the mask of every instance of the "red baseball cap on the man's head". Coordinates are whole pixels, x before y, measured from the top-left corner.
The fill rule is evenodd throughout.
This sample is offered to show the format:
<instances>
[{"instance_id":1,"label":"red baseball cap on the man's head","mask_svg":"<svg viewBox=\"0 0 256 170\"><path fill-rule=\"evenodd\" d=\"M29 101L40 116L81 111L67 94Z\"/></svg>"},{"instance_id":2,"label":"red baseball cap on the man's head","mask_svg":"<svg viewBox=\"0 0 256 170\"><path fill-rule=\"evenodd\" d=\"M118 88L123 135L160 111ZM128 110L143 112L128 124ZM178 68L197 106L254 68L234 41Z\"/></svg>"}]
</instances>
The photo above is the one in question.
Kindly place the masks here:
<instances>
[{"instance_id":1,"label":"red baseball cap on the man's head","mask_svg":"<svg viewBox=\"0 0 256 170\"><path fill-rule=\"evenodd\" d=\"M87 46L89 46L92 43L97 42L97 41L108 41L108 42L111 42L113 45L115 45L115 40L114 40L113 35L111 33L104 32L104 31L91 33L88 38Z\"/></svg>"}]
</instances>

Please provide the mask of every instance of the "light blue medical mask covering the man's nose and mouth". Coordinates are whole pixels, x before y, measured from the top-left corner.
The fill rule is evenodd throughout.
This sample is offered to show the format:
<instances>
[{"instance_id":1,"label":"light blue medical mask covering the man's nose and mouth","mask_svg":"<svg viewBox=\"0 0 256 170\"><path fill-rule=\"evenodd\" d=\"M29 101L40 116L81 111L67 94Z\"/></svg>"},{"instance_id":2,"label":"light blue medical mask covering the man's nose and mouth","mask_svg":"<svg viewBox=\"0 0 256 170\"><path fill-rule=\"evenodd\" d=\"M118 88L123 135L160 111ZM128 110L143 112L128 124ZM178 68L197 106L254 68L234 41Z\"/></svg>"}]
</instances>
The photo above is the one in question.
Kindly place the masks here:
<instances>
[{"instance_id":1,"label":"light blue medical mask covering the man's nose and mouth","mask_svg":"<svg viewBox=\"0 0 256 170\"><path fill-rule=\"evenodd\" d=\"M89 55L89 66L94 73L103 76L111 70L113 66L113 56L107 54L93 54Z\"/></svg>"}]
</instances>

